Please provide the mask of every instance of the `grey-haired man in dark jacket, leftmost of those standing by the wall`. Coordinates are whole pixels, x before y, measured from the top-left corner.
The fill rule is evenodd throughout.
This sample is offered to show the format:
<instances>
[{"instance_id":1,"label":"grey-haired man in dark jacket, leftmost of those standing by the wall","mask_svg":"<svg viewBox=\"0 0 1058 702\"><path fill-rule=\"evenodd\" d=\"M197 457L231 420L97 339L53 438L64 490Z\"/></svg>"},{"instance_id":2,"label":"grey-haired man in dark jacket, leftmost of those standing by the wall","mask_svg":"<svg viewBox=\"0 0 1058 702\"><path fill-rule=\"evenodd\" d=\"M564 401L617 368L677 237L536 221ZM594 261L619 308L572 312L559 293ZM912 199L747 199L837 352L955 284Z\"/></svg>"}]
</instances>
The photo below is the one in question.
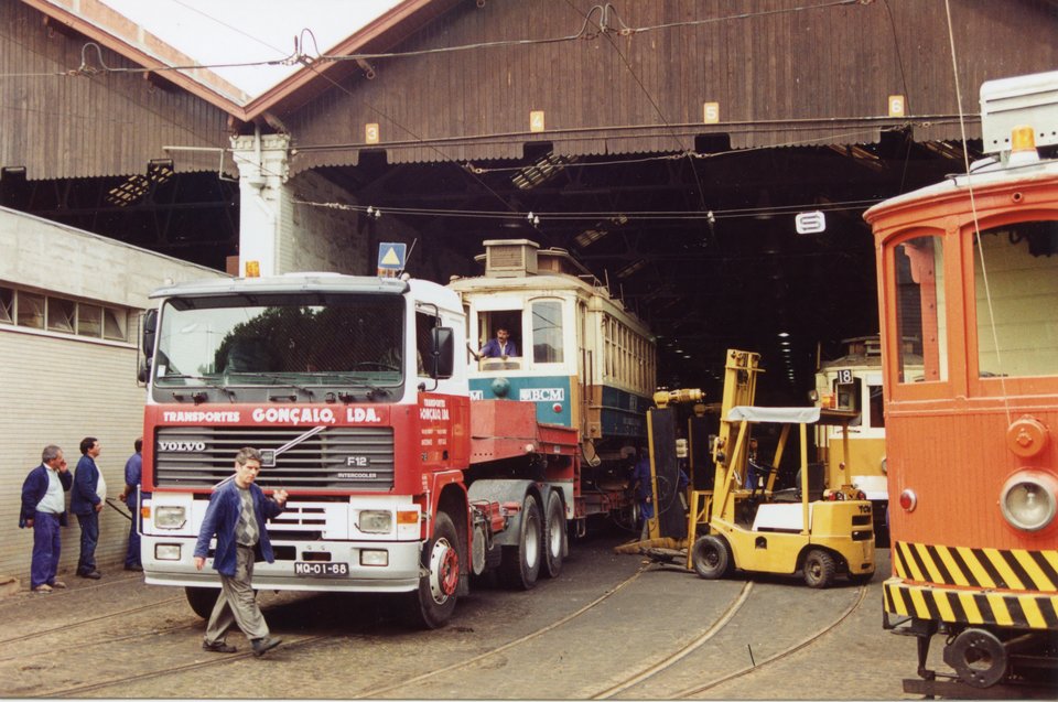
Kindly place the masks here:
<instances>
[{"instance_id":1,"label":"grey-haired man in dark jacket, leftmost of those standing by the wall","mask_svg":"<svg viewBox=\"0 0 1058 702\"><path fill-rule=\"evenodd\" d=\"M50 444L41 453L41 465L30 471L22 483L19 529L33 529L30 590L42 595L66 587L66 583L55 580L55 573L62 548L58 530L66 526L65 493L73 482L63 450Z\"/></svg>"}]
</instances>

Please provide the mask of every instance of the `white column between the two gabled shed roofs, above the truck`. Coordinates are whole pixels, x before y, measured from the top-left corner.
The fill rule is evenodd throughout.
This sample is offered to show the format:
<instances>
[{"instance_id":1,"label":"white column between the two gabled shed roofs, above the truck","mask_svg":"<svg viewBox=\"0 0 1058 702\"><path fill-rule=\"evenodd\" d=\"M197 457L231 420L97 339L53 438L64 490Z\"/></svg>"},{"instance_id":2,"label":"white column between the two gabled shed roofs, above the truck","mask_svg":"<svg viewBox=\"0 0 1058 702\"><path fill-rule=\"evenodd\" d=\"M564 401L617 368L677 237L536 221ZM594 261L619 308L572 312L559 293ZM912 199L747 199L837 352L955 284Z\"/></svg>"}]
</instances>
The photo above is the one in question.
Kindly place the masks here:
<instances>
[{"instance_id":1,"label":"white column between the two gabled shed roofs, above the truck","mask_svg":"<svg viewBox=\"0 0 1058 702\"><path fill-rule=\"evenodd\" d=\"M288 207L283 187L289 173L290 137L266 134L231 138L239 169L239 276L256 261L261 276L282 270L283 223Z\"/></svg>"}]
</instances>

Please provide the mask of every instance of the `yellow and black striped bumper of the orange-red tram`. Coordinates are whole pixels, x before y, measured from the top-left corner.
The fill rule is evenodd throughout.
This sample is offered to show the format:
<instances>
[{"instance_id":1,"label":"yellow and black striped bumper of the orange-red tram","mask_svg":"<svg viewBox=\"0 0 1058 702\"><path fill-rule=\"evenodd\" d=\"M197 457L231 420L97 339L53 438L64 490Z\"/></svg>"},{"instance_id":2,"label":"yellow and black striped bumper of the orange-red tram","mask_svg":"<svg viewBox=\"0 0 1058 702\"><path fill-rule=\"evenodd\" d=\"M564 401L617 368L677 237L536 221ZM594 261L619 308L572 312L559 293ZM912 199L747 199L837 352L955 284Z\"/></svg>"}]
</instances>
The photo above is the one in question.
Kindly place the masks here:
<instances>
[{"instance_id":1,"label":"yellow and black striped bumper of the orange-red tram","mask_svg":"<svg viewBox=\"0 0 1058 702\"><path fill-rule=\"evenodd\" d=\"M1058 630L1058 551L896 542L892 554L897 576L883 586L890 614Z\"/></svg>"}]
</instances>

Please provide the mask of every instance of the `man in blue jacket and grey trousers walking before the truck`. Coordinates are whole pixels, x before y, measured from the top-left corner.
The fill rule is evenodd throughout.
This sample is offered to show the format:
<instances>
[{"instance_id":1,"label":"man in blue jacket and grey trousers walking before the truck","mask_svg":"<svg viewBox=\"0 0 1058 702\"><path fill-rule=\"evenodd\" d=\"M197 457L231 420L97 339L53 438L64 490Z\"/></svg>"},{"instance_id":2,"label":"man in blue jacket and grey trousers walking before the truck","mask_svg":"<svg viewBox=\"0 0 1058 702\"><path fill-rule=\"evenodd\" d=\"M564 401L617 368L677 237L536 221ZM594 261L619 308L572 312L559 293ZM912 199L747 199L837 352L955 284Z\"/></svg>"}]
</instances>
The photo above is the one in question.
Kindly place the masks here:
<instances>
[{"instance_id":1,"label":"man in blue jacket and grey trousers walking before the truck","mask_svg":"<svg viewBox=\"0 0 1058 702\"><path fill-rule=\"evenodd\" d=\"M220 574L220 595L209 615L202 647L217 654L234 654L237 649L225 642L233 624L237 624L250 640L255 656L262 656L280 645L272 638L253 593L253 562L256 553L269 563L276 560L268 539L264 520L282 514L287 506L287 490L274 490L271 498L255 485L261 469L261 454L246 447L235 456L235 475L222 482L209 497L209 507L198 531L195 544L195 568L206 564L209 540L217 537L213 566Z\"/></svg>"}]
</instances>

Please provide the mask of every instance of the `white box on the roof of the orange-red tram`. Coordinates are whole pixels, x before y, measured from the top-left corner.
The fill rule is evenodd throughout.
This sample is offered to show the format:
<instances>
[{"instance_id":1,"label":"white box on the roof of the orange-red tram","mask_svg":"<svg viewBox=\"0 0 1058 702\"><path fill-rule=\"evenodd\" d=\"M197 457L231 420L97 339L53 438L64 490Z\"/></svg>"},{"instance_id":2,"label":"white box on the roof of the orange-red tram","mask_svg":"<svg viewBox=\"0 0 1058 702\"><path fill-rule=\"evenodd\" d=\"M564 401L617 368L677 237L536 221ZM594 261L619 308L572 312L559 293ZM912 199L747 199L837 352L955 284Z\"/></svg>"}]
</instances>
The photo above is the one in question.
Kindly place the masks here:
<instances>
[{"instance_id":1,"label":"white box on the roof of the orange-red tram","mask_svg":"<svg viewBox=\"0 0 1058 702\"><path fill-rule=\"evenodd\" d=\"M985 153L1011 150L1011 131L1032 126L1037 147L1058 144L1058 71L981 84L981 137Z\"/></svg>"}]
</instances>

